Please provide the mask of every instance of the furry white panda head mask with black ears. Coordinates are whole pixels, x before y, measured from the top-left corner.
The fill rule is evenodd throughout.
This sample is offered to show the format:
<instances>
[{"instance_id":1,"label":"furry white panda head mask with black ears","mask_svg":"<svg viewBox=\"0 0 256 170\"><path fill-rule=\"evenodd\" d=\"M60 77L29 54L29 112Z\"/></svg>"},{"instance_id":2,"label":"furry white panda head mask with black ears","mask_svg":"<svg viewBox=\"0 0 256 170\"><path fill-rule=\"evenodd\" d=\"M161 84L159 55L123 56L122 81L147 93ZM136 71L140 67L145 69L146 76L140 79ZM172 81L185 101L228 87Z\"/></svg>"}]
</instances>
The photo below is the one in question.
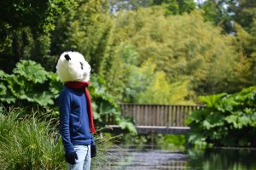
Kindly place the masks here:
<instances>
[{"instance_id":1,"label":"furry white panda head mask with black ears","mask_svg":"<svg viewBox=\"0 0 256 170\"><path fill-rule=\"evenodd\" d=\"M79 52L67 51L61 54L56 65L61 82L89 82L90 65Z\"/></svg>"}]
</instances>

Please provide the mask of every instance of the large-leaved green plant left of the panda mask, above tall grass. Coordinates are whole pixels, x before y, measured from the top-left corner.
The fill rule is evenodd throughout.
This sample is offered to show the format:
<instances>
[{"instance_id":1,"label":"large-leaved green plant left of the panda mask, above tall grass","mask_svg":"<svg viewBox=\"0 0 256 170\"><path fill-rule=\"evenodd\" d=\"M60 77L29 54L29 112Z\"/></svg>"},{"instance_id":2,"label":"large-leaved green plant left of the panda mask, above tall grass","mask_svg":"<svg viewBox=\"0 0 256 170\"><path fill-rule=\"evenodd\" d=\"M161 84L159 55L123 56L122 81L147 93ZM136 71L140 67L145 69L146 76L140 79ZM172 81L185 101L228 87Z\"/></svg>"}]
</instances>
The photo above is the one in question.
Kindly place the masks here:
<instances>
[{"instance_id":1,"label":"large-leaved green plant left of the panda mask, above tall grass","mask_svg":"<svg viewBox=\"0 0 256 170\"><path fill-rule=\"evenodd\" d=\"M21 60L17 63L13 74L2 71L2 93L0 100L16 106L53 105L54 94L49 92L50 79L55 77L41 65L31 60Z\"/></svg>"}]
</instances>

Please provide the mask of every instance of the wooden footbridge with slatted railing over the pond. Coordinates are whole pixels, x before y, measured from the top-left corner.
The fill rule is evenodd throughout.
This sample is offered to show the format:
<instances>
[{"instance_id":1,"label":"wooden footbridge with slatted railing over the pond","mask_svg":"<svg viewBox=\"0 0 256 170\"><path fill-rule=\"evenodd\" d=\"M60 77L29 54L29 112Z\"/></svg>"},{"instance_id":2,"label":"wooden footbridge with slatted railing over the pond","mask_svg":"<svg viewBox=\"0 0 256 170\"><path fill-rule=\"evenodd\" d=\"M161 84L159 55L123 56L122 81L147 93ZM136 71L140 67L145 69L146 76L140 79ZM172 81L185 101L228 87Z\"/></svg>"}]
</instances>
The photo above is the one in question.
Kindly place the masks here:
<instances>
[{"instance_id":1,"label":"wooden footbridge with slatted railing over the pond","mask_svg":"<svg viewBox=\"0 0 256 170\"><path fill-rule=\"evenodd\" d=\"M138 105L120 104L121 113L131 117L138 133L187 133L185 120L191 111L204 105ZM119 126L110 125L118 128Z\"/></svg>"}]
</instances>

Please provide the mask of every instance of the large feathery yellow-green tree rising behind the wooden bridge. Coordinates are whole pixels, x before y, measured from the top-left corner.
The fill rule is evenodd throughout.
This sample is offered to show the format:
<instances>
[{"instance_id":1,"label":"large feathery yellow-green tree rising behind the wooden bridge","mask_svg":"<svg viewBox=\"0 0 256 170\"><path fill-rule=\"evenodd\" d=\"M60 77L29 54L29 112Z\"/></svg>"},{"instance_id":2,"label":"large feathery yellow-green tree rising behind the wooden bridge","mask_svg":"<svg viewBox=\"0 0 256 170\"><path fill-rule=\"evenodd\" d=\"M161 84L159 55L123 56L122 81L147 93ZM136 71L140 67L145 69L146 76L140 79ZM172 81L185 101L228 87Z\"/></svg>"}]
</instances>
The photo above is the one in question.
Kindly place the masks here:
<instances>
[{"instance_id":1,"label":"large feathery yellow-green tree rising behind the wooden bridge","mask_svg":"<svg viewBox=\"0 0 256 170\"><path fill-rule=\"evenodd\" d=\"M114 32L113 42L134 47L137 67L152 59L155 70L164 71L171 84L189 81L187 91L193 89L195 94L231 90L233 65L239 62L231 43L234 37L206 23L200 12L166 16L159 6L126 11L117 16Z\"/></svg>"}]
</instances>

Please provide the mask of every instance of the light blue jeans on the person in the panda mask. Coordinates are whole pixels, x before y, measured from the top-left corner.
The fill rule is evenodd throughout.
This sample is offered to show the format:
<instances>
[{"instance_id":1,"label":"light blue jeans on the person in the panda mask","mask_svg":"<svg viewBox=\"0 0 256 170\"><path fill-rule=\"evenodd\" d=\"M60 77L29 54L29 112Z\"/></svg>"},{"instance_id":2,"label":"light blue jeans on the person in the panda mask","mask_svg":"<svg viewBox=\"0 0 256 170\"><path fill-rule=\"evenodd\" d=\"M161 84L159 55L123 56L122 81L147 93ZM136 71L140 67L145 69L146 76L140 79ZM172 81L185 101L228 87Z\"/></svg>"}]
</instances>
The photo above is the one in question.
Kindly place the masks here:
<instances>
[{"instance_id":1,"label":"light blue jeans on the person in the panda mask","mask_svg":"<svg viewBox=\"0 0 256 170\"><path fill-rule=\"evenodd\" d=\"M73 145L79 159L74 165L67 163L67 170L90 170L90 145Z\"/></svg>"}]
</instances>

